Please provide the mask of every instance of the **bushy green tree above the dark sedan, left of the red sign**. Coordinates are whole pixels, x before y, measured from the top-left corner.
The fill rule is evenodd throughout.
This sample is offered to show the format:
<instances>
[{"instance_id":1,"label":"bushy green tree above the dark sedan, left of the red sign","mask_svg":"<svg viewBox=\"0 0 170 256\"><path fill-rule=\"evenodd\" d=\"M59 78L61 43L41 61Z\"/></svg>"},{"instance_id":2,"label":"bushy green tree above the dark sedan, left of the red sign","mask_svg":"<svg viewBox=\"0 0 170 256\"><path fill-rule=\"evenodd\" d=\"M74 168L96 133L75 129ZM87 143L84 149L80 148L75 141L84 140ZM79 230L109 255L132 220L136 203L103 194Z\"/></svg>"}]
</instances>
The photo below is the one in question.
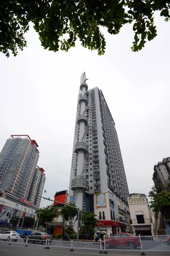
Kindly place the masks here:
<instances>
[{"instance_id":1,"label":"bushy green tree above the dark sedan, left of the red sign","mask_svg":"<svg viewBox=\"0 0 170 256\"><path fill-rule=\"evenodd\" d=\"M43 220L43 221L45 220L45 222L47 222L47 227L48 227L48 223L53 222L54 218L58 216L59 216L58 207L55 205L49 205L37 211L37 218L39 220Z\"/></svg>"}]
</instances>

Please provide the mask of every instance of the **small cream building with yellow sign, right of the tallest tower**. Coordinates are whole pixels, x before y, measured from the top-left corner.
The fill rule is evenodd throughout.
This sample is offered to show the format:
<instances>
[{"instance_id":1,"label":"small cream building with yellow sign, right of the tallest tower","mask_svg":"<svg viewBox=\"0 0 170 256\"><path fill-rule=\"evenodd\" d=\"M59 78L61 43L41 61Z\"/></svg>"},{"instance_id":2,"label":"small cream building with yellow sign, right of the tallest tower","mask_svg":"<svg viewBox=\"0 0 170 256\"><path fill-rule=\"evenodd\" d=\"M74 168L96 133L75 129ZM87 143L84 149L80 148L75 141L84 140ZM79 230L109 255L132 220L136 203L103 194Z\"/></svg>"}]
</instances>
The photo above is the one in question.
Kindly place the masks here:
<instances>
[{"instance_id":1,"label":"small cream building with yellow sign, right of the tallest tower","mask_svg":"<svg viewBox=\"0 0 170 256\"><path fill-rule=\"evenodd\" d=\"M133 235L154 235L153 221L146 195L130 194L128 198Z\"/></svg>"}]
</instances>

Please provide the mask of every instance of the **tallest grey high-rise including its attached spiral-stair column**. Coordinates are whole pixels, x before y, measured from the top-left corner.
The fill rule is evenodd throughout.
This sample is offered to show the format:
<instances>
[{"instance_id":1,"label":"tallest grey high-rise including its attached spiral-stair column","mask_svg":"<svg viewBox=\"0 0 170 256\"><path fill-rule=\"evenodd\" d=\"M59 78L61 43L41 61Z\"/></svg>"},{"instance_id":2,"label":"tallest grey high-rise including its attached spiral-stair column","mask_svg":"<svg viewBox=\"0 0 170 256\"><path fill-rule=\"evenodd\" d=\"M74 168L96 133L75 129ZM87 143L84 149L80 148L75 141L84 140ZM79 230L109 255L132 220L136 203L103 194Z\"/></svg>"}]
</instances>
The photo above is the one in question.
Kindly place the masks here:
<instances>
[{"instance_id":1,"label":"tallest grey high-rise including its attached spiral-stair column","mask_svg":"<svg viewBox=\"0 0 170 256\"><path fill-rule=\"evenodd\" d=\"M94 212L102 230L116 233L124 231L129 218L125 169L115 123L102 90L88 90L86 81L83 73L68 200L83 211Z\"/></svg>"}]
</instances>

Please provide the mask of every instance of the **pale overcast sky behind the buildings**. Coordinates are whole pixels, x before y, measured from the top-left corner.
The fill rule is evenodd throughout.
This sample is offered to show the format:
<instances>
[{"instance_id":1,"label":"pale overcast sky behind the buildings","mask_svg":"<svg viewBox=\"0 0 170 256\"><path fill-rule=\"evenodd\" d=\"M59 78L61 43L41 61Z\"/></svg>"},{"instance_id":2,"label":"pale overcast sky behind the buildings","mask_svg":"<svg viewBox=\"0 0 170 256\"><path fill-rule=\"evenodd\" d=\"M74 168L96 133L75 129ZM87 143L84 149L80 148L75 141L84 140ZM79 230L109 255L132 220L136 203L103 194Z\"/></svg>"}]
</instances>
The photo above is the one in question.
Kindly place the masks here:
<instances>
[{"instance_id":1,"label":"pale overcast sky behind the buildings","mask_svg":"<svg viewBox=\"0 0 170 256\"><path fill-rule=\"evenodd\" d=\"M132 25L119 35L104 30L106 53L81 47L44 50L34 29L17 57L0 54L0 150L11 134L28 134L39 145L46 196L68 189L80 76L99 87L112 113L129 192L153 186L153 166L170 156L170 23L156 17L158 36L131 52ZM43 206L49 204L44 201Z\"/></svg>"}]
</instances>

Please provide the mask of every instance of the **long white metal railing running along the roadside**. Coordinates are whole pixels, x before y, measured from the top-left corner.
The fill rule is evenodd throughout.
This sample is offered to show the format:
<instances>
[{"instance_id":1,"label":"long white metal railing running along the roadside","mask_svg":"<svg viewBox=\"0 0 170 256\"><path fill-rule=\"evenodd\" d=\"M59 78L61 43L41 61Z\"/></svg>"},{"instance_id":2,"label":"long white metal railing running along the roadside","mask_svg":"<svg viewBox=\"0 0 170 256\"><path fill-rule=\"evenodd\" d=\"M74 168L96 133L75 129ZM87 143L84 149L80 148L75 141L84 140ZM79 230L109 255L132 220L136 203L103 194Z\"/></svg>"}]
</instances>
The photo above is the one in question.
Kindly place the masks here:
<instances>
[{"instance_id":1,"label":"long white metal railing running along the roadside","mask_svg":"<svg viewBox=\"0 0 170 256\"><path fill-rule=\"evenodd\" d=\"M121 235L121 234L120 234ZM144 251L170 251L170 236L126 236L126 237L105 237L104 241L61 241L61 240L35 240L35 239L15 239L15 238L2 238L0 241L8 244L15 242L23 244L28 247L31 244L43 245L45 249L50 247L65 247L73 251L74 249L92 249L99 250L99 253L107 253L107 250L128 250L139 251L144 254Z\"/></svg>"}]
</instances>

